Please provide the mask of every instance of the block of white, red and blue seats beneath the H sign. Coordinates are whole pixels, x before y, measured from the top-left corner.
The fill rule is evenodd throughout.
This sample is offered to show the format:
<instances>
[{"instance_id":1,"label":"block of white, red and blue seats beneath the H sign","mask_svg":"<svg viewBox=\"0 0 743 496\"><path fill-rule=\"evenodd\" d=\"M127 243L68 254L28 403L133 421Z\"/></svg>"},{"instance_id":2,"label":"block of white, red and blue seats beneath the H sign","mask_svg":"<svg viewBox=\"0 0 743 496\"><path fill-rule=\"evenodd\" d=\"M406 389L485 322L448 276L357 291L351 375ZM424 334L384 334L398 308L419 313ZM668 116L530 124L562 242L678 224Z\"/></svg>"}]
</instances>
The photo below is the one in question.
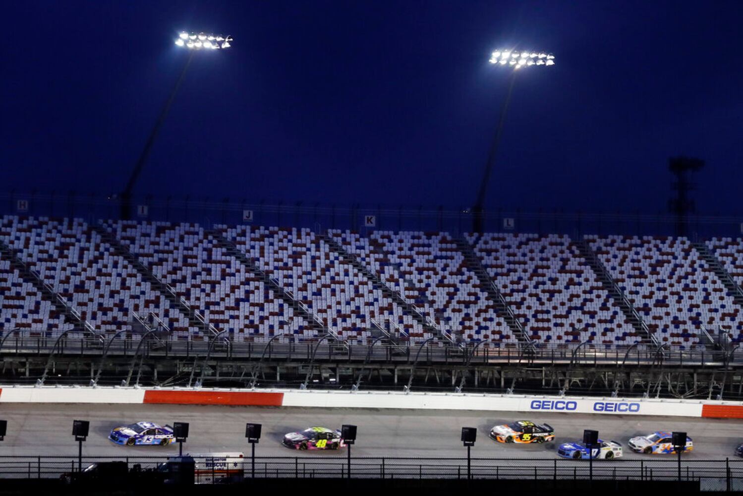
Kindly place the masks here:
<instances>
[{"instance_id":1,"label":"block of white, red and blue seats beneath the H sign","mask_svg":"<svg viewBox=\"0 0 743 496\"><path fill-rule=\"evenodd\" d=\"M81 219L4 216L0 237L98 332L117 332L132 320L130 312L154 312L188 337L184 315Z\"/></svg>"}]
</instances>

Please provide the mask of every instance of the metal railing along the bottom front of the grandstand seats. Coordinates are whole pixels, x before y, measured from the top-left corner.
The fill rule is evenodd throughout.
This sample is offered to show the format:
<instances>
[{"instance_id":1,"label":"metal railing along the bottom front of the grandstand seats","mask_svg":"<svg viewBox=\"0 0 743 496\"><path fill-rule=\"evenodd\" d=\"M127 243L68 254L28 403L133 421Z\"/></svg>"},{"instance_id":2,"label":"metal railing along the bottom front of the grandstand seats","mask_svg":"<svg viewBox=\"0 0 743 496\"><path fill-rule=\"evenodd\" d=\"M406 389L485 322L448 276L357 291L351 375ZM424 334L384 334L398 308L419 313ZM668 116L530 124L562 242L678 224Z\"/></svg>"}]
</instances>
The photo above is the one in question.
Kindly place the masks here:
<instances>
[{"instance_id":1,"label":"metal railing along the bottom front of the grandstand seats","mask_svg":"<svg viewBox=\"0 0 743 496\"><path fill-rule=\"evenodd\" d=\"M12 334L10 334L12 332ZM0 329L0 355L48 355L52 352L56 341L55 334L43 331L33 332L25 329ZM103 336L100 336L103 337ZM56 354L98 356L103 351L102 341L99 338L87 338L80 336L67 336L63 339ZM107 346L110 347L108 354L111 356L132 356L137 349L141 335L134 332L121 333L103 337ZM293 339L293 335L280 338L269 344L268 354L273 359L282 360L308 360L312 355L316 344L314 340L287 342ZM172 335L163 336L158 347L143 347L143 355L149 357L194 357L204 355L209 349L210 340L201 341L178 340ZM259 358L267 341L231 341L231 347L226 350L215 349L212 358L230 359L253 359ZM162 344L165 346L162 346ZM476 343L467 343L464 347L456 347L443 341L426 343L424 355L421 360L429 363L464 363L470 350L474 350ZM379 344L371 347L371 344L354 343L344 341L343 347L337 344L323 344L317 353L319 360L338 362L364 361L369 353L371 361L390 361L403 363L409 361L410 355L415 355L421 344L413 341L400 340L395 346ZM371 347L371 350L370 350ZM400 347L409 350L400 354ZM575 364L575 365L652 365L662 361L666 367L672 366L719 366L724 363L730 365L743 365L743 352L737 350L715 351L704 347L700 349L679 350L669 347L664 354L659 356L658 349L642 344L634 346L610 346L584 344L577 349L577 344L565 344L551 346L537 344L524 350L519 343L494 344L477 347L475 353L470 357L470 365L487 364Z\"/></svg>"}]
</instances>

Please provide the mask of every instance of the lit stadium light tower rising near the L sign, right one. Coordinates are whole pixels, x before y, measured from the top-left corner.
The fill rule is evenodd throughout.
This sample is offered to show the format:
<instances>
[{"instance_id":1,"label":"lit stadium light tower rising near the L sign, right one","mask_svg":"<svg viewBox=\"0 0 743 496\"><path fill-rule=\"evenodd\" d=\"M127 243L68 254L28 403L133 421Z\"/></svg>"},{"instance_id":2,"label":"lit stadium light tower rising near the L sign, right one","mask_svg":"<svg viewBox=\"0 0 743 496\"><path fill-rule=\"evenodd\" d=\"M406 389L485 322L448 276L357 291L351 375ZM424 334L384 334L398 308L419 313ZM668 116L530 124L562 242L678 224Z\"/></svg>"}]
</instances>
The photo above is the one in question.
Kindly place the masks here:
<instances>
[{"instance_id":1,"label":"lit stadium light tower rising near the L sign, right one","mask_svg":"<svg viewBox=\"0 0 743 496\"><path fill-rule=\"evenodd\" d=\"M481 233L483 228L482 210L485 202L485 194L487 193L487 184L490 182L490 174L493 172L493 165L496 161L496 153L498 152L498 144L501 141L501 135L503 132L503 123L506 119L508 112L508 106L510 105L511 94L513 94L513 83L516 82L516 73L519 70L525 68L534 67L549 67L555 65L555 57L553 54L547 54L545 52L538 51L520 51L520 50L496 50L490 55L491 64L496 65L499 68L510 71L510 81L508 83L508 91L506 99L501 108L501 117L498 120L498 127L496 128L496 135L493 137L493 143L490 144L490 152L487 154L487 162L485 164L485 172L480 182L480 189L477 193L477 199L472 208L473 223L472 228L474 233Z\"/></svg>"}]
</instances>

